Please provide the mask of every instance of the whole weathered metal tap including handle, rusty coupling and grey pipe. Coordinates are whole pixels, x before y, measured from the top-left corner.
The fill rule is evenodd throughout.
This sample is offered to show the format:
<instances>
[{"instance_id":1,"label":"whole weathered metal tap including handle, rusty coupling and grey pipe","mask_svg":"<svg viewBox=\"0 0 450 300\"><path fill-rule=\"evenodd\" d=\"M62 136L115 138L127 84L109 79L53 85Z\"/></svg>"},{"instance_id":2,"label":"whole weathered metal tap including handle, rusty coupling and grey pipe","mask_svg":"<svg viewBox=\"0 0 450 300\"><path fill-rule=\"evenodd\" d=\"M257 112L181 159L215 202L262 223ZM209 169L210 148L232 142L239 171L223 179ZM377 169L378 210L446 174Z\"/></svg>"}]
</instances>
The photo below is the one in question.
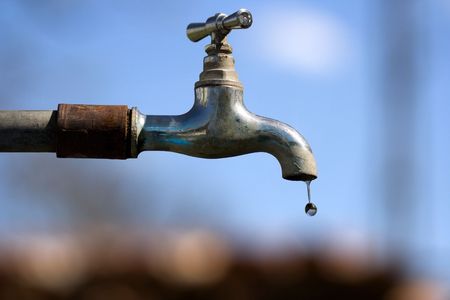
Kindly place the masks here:
<instances>
[{"instance_id":1,"label":"whole weathered metal tap including handle, rusty coupling and grey pipe","mask_svg":"<svg viewBox=\"0 0 450 300\"><path fill-rule=\"evenodd\" d=\"M201 158L272 154L288 180L317 178L311 147L287 124L247 110L227 35L252 25L246 9L218 13L187 27L197 42L210 36L195 101L185 114L144 115L136 107L60 104L57 111L0 111L0 151L56 152L58 157L137 158L172 151Z\"/></svg>"}]
</instances>

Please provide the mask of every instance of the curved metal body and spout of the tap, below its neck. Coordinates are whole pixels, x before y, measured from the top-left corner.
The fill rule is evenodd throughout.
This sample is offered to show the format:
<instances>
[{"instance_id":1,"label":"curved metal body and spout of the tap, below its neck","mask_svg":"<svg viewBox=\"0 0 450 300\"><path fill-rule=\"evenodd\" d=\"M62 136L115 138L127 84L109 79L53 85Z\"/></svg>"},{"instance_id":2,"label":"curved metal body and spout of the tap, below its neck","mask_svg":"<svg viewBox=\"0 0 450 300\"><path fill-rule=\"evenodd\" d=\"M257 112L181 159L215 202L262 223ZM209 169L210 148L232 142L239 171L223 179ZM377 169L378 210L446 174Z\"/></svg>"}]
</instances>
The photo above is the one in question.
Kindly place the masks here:
<instances>
[{"instance_id":1,"label":"curved metal body and spout of the tap, below its neck","mask_svg":"<svg viewBox=\"0 0 450 300\"><path fill-rule=\"evenodd\" d=\"M249 112L243 91L235 86L201 86L195 103L179 116L144 116L138 152L162 150L202 158L253 152L275 156L283 178L310 181L316 163L306 140L292 127Z\"/></svg>"}]
</instances>

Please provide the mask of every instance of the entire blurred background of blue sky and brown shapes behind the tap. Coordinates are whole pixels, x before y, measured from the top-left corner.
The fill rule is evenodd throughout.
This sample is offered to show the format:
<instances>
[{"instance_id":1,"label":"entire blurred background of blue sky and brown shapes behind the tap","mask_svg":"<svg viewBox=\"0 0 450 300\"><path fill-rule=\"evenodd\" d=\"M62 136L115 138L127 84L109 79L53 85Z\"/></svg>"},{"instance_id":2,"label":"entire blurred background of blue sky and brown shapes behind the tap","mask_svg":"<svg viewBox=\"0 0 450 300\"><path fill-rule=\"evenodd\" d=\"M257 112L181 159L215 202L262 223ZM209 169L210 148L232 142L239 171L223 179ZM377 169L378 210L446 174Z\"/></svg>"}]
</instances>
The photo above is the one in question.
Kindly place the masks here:
<instances>
[{"instance_id":1,"label":"entire blurred background of blue sky and brown shapes behind the tap","mask_svg":"<svg viewBox=\"0 0 450 300\"><path fill-rule=\"evenodd\" d=\"M3 153L1 299L448 299L448 0L3 0L0 109L184 113L187 24L241 7L246 106L311 144L317 215L263 153Z\"/></svg>"}]
</instances>

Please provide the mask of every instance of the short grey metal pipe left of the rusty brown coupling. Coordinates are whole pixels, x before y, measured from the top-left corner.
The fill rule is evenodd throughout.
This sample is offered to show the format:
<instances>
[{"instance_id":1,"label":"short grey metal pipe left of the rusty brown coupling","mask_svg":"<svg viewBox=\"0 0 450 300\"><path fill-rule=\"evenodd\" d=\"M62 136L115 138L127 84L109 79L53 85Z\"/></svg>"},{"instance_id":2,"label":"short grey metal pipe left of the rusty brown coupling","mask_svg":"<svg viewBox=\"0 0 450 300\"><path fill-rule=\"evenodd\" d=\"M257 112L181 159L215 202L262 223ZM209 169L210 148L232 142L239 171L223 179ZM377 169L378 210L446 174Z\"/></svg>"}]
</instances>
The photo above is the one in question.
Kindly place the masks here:
<instances>
[{"instance_id":1,"label":"short grey metal pipe left of the rusty brown coupling","mask_svg":"<svg viewBox=\"0 0 450 300\"><path fill-rule=\"evenodd\" d=\"M1 152L55 152L54 110L0 111Z\"/></svg>"}]
</instances>

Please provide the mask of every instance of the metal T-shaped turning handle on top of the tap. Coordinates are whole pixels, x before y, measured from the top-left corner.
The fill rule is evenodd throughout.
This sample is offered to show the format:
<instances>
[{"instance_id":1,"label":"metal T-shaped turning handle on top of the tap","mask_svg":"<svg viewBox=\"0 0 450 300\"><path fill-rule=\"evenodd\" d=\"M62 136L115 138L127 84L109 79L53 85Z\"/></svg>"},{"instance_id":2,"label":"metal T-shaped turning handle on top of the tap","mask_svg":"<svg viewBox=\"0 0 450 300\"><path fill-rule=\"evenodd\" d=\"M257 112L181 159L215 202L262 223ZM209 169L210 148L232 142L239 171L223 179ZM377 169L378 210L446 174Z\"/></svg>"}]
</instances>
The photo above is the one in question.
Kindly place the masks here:
<instances>
[{"instance_id":1,"label":"metal T-shaped turning handle on top of the tap","mask_svg":"<svg viewBox=\"0 0 450 300\"><path fill-rule=\"evenodd\" d=\"M193 42L211 35L211 44L220 44L232 29L249 28L252 23L252 14L247 9L241 8L229 16L217 13L205 23L191 23L186 28L186 34Z\"/></svg>"}]
</instances>

